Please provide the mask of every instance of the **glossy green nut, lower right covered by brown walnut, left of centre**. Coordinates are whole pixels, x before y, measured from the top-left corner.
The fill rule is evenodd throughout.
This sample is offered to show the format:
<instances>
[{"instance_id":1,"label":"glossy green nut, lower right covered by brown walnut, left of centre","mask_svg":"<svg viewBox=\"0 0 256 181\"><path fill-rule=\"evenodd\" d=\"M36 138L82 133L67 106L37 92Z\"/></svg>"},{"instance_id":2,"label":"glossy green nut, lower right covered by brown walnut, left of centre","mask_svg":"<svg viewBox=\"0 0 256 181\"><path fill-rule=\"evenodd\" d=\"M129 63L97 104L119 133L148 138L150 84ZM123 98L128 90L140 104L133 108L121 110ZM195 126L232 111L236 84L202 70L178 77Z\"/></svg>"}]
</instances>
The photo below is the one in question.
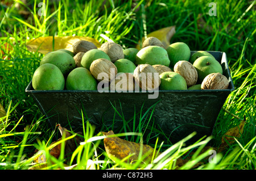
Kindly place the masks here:
<instances>
[{"instance_id":1,"label":"glossy green nut, lower right covered by brown walnut, left of centre","mask_svg":"<svg viewBox=\"0 0 256 181\"><path fill-rule=\"evenodd\" d=\"M92 64L92 62L94 60L97 60L99 58L104 58L104 59L110 60L110 57L108 56L108 54L106 54L102 50L91 49L91 50L85 52L84 56L82 56L81 66L90 70L90 64Z\"/></svg>"}]
</instances>

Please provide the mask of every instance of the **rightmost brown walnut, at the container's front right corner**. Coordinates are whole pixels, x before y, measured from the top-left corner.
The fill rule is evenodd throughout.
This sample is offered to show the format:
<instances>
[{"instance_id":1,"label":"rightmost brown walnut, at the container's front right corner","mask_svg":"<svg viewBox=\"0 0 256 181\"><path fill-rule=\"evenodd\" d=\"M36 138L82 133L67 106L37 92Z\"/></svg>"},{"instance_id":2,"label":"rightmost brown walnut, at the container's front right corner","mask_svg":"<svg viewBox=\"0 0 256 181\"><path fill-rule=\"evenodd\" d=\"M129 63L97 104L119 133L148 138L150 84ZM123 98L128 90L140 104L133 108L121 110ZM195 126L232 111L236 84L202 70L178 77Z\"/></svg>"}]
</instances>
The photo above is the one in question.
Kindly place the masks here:
<instances>
[{"instance_id":1,"label":"rightmost brown walnut, at the container's front right corner","mask_svg":"<svg viewBox=\"0 0 256 181\"><path fill-rule=\"evenodd\" d=\"M228 89L229 81L221 73L211 73L204 78L201 89Z\"/></svg>"}]
</instances>

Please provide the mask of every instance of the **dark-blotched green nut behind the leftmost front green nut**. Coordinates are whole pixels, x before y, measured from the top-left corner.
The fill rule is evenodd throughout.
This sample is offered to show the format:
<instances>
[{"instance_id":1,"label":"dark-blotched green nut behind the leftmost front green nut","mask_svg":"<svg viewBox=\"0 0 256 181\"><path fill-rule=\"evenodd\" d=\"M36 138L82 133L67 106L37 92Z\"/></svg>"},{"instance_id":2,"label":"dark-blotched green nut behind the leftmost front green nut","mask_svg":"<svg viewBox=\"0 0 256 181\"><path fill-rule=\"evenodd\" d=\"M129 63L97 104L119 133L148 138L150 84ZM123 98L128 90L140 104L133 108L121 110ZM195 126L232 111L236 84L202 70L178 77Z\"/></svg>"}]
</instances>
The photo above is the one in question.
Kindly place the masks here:
<instances>
[{"instance_id":1,"label":"dark-blotched green nut behind the leftmost front green nut","mask_svg":"<svg viewBox=\"0 0 256 181\"><path fill-rule=\"evenodd\" d=\"M70 54L63 51L55 51L46 54L46 56L44 56L40 62L40 65L43 64L56 65L64 76L68 75L68 73L76 67L74 58Z\"/></svg>"}]
</instances>

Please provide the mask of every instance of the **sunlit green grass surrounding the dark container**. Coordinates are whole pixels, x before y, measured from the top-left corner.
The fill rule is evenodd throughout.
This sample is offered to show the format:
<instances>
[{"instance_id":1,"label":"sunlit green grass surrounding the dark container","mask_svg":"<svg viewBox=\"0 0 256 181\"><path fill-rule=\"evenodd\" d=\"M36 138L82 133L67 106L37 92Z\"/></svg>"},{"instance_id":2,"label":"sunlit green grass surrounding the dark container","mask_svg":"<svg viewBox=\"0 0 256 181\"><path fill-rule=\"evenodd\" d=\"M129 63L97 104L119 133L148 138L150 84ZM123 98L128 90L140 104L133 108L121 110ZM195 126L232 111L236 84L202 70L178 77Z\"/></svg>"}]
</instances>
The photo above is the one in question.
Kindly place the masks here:
<instances>
[{"instance_id":1,"label":"sunlit green grass surrounding the dark container","mask_svg":"<svg viewBox=\"0 0 256 181\"><path fill-rule=\"evenodd\" d=\"M7 6L7 1L3 1L0 11L0 103L7 112L7 116L0 119L0 169L28 169L36 166L32 163L37 156L34 155L35 149L44 150L47 160L52 162L44 169L64 167L64 153L59 159L49 155L50 144L56 141L56 136L60 137L59 132L47 125L46 118L34 100L24 92L43 57L43 54L27 50L28 40L40 36L75 34L94 37L100 43L104 43L105 37L108 37L123 48L130 48L135 47L147 33L173 25L176 26L176 33L171 43L183 41L191 50L216 50L227 54L236 89L223 106L229 112L221 110L217 118L212 138L214 145L220 145L222 135L238 125L243 117L246 119L241 138L224 153L217 154L216 163L206 160L204 165L196 169L256 168L255 1L216 1L217 16L209 16L208 1L159 0L137 1L138 6L135 7L131 7L132 1L106 1L105 6L102 5L104 1L47 2L46 16L38 16L39 1L35 1L20 6L21 10L30 12L27 19L15 9L14 4L19 2L10 2ZM197 23L199 15L204 19L206 28ZM161 132L148 125L152 121L152 113L142 113L140 119L136 120L138 127L130 127L127 123L135 120L125 120L122 112L115 110L115 116L121 117L122 123L117 135L135 142L143 139L144 144L163 152L160 157L148 164L141 161L133 165L123 161L113 163L105 153L102 135L88 121L83 120L86 123L80 136L85 142L71 155L71 159L77 163L77 169L86 169L90 159L97 163L96 169L193 169L196 163L204 161L205 156L209 155L208 151L203 155L199 151L210 138L202 138L185 146L184 141L193 135L176 144L160 141L158 136ZM103 127L102 131L107 132L108 129ZM186 158L191 151L195 151L195 154L189 162L177 167L176 159Z\"/></svg>"}]
</instances>

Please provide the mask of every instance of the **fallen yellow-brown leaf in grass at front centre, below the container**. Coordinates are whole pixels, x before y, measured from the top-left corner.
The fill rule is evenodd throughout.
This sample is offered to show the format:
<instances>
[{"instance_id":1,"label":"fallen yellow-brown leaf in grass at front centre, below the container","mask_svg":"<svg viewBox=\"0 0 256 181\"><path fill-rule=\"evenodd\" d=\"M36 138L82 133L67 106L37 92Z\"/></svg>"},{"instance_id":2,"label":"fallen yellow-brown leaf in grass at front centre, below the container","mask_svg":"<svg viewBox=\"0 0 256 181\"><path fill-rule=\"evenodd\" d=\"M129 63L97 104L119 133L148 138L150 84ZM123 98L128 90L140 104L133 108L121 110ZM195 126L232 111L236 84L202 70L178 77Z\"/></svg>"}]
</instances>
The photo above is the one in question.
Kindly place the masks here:
<instances>
[{"instance_id":1,"label":"fallen yellow-brown leaf in grass at front centre, below the container","mask_svg":"<svg viewBox=\"0 0 256 181\"><path fill-rule=\"evenodd\" d=\"M108 133L102 132L104 136L113 135L113 131L109 131ZM123 159L127 156L129 157L129 161L135 161L139 157L139 153L141 151L141 144L136 142L126 141L117 136L115 137L106 137L104 138L104 146L106 153L109 155L109 158L115 161L115 158ZM144 161L150 161L154 154L154 148L148 145L143 145L142 155L147 155ZM126 159L126 162L128 159Z\"/></svg>"}]
</instances>

